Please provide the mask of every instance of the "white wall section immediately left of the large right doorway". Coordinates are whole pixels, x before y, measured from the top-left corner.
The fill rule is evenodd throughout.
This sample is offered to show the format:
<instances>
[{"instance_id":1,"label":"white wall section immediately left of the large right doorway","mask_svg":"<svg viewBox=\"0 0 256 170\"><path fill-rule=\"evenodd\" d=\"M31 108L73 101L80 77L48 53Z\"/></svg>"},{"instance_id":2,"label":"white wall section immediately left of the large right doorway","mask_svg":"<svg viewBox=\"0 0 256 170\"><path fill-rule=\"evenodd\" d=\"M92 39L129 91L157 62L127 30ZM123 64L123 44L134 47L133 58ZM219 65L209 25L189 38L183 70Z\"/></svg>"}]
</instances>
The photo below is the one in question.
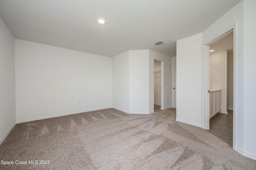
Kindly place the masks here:
<instances>
[{"instance_id":1,"label":"white wall section immediately left of the large right doorway","mask_svg":"<svg viewBox=\"0 0 256 170\"><path fill-rule=\"evenodd\" d=\"M202 33L177 41L176 121L202 127Z\"/></svg>"}]
</instances>

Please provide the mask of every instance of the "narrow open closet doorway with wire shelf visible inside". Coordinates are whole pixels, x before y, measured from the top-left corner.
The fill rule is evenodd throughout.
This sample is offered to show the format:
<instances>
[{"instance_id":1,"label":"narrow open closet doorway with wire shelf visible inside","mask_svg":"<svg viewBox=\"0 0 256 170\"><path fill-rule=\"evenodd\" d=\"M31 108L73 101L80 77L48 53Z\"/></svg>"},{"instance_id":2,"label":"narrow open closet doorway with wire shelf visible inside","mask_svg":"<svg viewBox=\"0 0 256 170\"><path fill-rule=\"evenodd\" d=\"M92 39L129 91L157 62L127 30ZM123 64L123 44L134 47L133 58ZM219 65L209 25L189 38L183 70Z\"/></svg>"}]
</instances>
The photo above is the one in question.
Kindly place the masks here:
<instances>
[{"instance_id":1,"label":"narrow open closet doorway with wire shelf visible inside","mask_svg":"<svg viewBox=\"0 0 256 170\"><path fill-rule=\"evenodd\" d=\"M154 111L161 108L161 62L154 60Z\"/></svg>"}]
</instances>

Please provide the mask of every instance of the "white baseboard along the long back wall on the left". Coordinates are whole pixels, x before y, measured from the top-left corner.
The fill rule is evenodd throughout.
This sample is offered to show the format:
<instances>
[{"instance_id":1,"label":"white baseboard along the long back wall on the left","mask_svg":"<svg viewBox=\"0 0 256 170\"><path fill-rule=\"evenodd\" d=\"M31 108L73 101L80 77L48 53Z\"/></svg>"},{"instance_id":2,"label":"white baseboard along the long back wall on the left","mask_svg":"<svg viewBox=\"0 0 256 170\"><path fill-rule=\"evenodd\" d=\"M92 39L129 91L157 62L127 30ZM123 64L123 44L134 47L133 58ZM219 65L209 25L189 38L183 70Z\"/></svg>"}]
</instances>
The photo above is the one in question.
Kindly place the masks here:
<instances>
[{"instance_id":1,"label":"white baseboard along the long back wall on the left","mask_svg":"<svg viewBox=\"0 0 256 170\"><path fill-rule=\"evenodd\" d=\"M38 118L32 118L32 119L24 119L24 120L21 120L21 121L17 121L16 123L38 121L38 120L42 120L42 119L49 119L49 118L53 118L53 117L61 117L61 116L73 115L73 114L77 114L77 113L84 113L84 112L90 112L90 111L98 111L98 110L109 109L109 108L112 108L112 107L104 107L104 108L90 109L90 110L85 110L85 111L76 111L76 112L70 112L70 113L62 113L62 114L58 114L58 115L38 117Z\"/></svg>"}]
</instances>

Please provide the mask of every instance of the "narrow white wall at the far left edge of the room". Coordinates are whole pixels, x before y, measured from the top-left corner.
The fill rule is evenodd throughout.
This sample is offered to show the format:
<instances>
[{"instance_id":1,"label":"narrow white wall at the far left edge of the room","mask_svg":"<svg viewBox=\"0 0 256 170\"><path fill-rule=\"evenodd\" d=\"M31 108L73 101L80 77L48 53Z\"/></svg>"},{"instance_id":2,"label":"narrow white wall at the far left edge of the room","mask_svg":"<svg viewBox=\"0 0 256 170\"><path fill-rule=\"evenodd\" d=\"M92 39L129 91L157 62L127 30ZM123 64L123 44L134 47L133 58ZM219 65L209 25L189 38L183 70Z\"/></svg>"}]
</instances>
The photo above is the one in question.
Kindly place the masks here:
<instances>
[{"instance_id":1,"label":"narrow white wall at the far left edge of the room","mask_svg":"<svg viewBox=\"0 0 256 170\"><path fill-rule=\"evenodd\" d=\"M14 37L0 18L0 144L16 123Z\"/></svg>"}]
</instances>

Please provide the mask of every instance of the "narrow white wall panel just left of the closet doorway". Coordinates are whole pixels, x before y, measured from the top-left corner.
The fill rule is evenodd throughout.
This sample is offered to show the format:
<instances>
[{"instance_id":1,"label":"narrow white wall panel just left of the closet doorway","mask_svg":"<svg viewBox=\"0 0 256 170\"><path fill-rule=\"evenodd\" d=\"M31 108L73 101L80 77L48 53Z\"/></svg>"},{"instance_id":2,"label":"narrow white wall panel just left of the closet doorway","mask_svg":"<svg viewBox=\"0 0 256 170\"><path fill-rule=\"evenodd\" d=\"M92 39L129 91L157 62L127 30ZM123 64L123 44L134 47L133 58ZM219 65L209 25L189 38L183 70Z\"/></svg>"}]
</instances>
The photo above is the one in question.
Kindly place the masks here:
<instances>
[{"instance_id":1,"label":"narrow white wall panel just left of the closet doorway","mask_svg":"<svg viewBox=\"0 0 256 170\"><path fill-rule=\"evenodd\" d=\"M149 50L129 51L129 113L149 113L148 53Z\"/></svg>"}]
</instances>

